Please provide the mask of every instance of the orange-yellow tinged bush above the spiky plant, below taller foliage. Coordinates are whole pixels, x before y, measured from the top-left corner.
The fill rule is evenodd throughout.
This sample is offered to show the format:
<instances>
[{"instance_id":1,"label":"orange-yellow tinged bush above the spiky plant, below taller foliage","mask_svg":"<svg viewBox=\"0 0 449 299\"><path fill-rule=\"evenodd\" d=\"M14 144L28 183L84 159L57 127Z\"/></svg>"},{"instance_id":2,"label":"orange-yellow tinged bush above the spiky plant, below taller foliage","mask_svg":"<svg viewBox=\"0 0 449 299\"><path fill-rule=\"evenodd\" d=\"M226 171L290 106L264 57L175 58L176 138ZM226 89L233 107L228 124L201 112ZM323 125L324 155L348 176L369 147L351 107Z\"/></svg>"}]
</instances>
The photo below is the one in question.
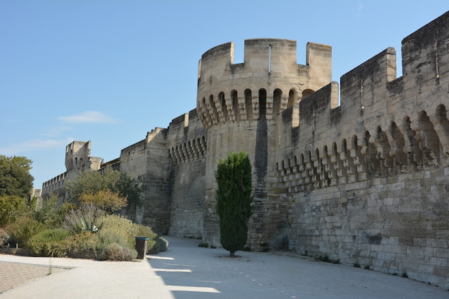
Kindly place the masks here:
<instances>
[{"instance_id":1,"label":"orange-yellow tinged bush above the spiky plant, below taller foliage","mask_svg":"<svg viewBox=\"0 0 449 299\"><path fill-rule=\"evenodd\" d=\"M100 190L97 193L87 192L79 197L81 204L93 204L111 214L114 211L126 207L126 197L121 197L118 192L114 193L109 189Z\"/></svg>"}]
</instances>

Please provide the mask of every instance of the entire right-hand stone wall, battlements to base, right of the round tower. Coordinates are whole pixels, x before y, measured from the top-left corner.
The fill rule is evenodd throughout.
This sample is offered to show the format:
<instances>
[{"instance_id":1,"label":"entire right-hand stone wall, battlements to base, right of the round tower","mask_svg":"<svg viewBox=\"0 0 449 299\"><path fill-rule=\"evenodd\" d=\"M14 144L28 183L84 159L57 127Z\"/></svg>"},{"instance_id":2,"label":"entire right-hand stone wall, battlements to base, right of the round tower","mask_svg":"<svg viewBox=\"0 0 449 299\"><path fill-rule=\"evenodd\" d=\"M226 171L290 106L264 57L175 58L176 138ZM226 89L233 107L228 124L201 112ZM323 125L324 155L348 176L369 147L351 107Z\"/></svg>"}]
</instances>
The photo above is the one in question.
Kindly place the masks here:
<instances>
[{"instance_id":1,"label":"entire right-hand stone wall, battlements to base, right of the round tower","mask_svg":"<svg viewBox=\"0 0 449 299\"><path fill-rule=\"evenodd\" d=\"M278 117L288 247L449 286L449 13Z\"/></svg>"}]
</instances>

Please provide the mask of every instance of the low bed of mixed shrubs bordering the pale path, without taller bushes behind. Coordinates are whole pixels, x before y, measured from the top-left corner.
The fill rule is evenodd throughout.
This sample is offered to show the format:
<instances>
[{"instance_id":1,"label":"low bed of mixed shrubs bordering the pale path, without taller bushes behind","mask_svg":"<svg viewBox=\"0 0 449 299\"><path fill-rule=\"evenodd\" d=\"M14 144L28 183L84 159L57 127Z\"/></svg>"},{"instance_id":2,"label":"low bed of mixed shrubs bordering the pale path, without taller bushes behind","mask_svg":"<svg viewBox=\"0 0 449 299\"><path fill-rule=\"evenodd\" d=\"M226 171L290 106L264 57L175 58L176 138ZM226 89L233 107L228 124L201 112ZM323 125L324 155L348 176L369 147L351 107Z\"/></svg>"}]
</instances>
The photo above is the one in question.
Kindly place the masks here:
<instances>
[{"instance_id":1,"label":"low bed of mixed shrubs bordering the pale path, without taller bushes behind","mask_svg":"<svg viewBox=\"0 0 449 299\"><path fill-rule=\"evenodd\" d=\"M123 216L108 215L93 204L70 207L72 209L67 209L58 223L51 225L37 220L36 214L32 213L23 214L13 223L8 223L1 230L1 243L5 246L0 246L0 253L133 260L137 256L135 236L148 237L147 254L168 248L166 239L145 225L133 223Z\"/></svg>"}]
</instances>

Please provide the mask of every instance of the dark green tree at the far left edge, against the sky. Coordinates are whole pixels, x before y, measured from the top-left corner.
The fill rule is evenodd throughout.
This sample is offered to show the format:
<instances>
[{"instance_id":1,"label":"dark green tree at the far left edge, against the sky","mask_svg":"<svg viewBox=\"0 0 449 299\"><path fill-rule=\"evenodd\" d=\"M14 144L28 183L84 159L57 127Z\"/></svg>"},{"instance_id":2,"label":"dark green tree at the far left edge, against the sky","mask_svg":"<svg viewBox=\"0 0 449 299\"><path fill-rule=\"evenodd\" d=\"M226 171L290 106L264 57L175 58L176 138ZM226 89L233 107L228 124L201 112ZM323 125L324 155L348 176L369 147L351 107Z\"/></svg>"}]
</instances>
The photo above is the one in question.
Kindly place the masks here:
<instances>
[{"instance_id":1,"label":"dark green tree at the far left edge, against the sky","mask_svg":"<svg viewBox=\"0 0 449 299\"><path fill-rule=\"evenodd\" d=\"M23 156L0 155L0 195L29 196L34 181L31 165L32 160Z\"/></svg>"}]
</instances>

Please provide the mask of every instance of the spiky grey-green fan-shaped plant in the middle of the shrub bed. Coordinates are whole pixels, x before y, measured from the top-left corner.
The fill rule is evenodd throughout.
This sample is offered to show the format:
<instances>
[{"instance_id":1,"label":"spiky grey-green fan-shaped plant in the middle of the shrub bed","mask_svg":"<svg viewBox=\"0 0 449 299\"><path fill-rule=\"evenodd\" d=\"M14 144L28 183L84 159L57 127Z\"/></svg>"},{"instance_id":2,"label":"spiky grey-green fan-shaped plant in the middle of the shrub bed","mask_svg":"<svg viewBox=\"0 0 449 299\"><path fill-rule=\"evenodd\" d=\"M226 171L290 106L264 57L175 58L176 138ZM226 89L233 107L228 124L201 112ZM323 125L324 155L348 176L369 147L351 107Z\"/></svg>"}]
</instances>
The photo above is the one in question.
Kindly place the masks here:
<instances>
[{"instance_id":1,"label":"spiky grey-green fan-shaped plant in the middle of the shrub bed","mask_svg":"<svg viewBox=\"0 0 449 299\"><path fill-rule=\"evenodd\" d=\"M72 234L89 230L96 231L95 227L100 227L100 218L105 215L105 211L98 209L93 204L86 204L77 210L72 209L65 216L62 227L69 230Z\"/></svg>"}]
</instances>

